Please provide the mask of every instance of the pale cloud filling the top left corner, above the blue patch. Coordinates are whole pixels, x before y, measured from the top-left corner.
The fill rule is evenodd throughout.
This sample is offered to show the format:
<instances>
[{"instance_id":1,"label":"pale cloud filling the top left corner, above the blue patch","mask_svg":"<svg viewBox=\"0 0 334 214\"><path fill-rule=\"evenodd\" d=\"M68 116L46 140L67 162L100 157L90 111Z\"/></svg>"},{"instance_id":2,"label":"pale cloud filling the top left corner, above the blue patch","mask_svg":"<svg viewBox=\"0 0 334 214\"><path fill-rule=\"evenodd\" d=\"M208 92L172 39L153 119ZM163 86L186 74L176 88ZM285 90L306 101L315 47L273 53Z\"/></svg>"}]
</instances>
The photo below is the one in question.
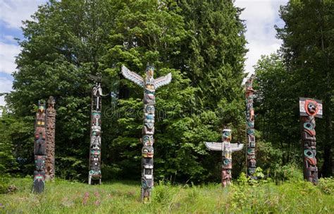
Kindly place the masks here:
<instances>
[{"instance_id":1,"label":"pale cloud filling the top left corner, above the blue patch","mask_svg":"<svg viewBox=\"0 0 334 214\"><path fill-rule=\"evenodd\" d=\"M37 6L45 0L0 0L0 20L6 23L7 28L20 28L22 20L30 19L37 11Z\"/></svg>"}]
</instances>

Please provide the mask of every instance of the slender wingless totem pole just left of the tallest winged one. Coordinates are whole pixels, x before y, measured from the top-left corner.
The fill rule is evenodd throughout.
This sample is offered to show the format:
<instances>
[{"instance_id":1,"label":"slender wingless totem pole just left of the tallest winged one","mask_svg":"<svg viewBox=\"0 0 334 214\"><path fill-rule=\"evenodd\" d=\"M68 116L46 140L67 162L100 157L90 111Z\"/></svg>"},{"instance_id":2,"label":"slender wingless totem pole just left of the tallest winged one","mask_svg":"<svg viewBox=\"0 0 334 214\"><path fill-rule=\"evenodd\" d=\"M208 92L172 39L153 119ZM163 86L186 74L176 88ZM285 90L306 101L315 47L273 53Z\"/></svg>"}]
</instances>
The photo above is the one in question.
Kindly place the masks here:
<instances>
[{"instance_id":1,"label":"slender wingless totem pole just left of the tallest winged one","mask_svg":"<svg viewBox=\"0 0 334 214\"><path fill-rule=\"evenodd\" d=\"M92 88L88 184L92 184L92 180L99 180L101 184L101 96L101 83L97 82Z\"/></svg>"}]
</instances>

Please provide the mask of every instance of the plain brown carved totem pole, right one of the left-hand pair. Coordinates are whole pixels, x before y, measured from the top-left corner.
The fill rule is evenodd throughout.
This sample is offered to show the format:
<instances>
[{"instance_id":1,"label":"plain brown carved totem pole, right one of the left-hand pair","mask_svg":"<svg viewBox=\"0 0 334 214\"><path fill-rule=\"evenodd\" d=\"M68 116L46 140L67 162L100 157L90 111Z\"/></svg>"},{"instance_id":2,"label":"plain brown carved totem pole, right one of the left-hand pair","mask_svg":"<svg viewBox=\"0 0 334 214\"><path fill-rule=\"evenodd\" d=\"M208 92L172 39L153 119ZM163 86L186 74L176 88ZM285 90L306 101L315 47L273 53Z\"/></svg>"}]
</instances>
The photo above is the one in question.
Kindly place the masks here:
<instances>
[{"instance_id":1,"label":"plain brown carved totem pole, right one of the left-hand pair","mask_svg":"<svg viewBox=\"0 0 334 214\"><path fill-rule=\"evenodd\" d=\"M56 129L56 110L54 109L55 100L50 96L47 108L47 160L45 175L47 180L54 179L54 147L55 147L55 129Z\"/></svg>"}]
</instances>

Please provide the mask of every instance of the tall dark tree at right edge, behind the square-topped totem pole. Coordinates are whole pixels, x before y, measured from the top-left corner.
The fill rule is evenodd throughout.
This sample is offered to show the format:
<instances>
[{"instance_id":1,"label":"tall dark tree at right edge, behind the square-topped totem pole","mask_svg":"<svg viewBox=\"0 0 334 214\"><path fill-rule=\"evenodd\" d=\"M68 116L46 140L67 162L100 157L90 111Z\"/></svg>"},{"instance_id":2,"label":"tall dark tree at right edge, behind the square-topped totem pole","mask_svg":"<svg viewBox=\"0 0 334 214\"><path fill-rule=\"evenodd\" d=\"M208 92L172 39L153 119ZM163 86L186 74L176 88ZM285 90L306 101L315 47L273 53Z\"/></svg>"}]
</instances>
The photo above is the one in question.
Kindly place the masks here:
<instances>
[{"instance_id":1,"label":"tall dark tree at right edge, behind the square-topped totem pole","mask_svg":"<svg viewBox=\"0 0 334 214\"><path fill-rule=\"evenodd\" d=\"M323 100L324 119L317 120L317 143L323 155L319 174L325 177L333 174L333 10L333 1L289 1L280 8L285 27L277 28L283 40L280 53L298 85L295 96Z\"/></svg>"}]
</instances>

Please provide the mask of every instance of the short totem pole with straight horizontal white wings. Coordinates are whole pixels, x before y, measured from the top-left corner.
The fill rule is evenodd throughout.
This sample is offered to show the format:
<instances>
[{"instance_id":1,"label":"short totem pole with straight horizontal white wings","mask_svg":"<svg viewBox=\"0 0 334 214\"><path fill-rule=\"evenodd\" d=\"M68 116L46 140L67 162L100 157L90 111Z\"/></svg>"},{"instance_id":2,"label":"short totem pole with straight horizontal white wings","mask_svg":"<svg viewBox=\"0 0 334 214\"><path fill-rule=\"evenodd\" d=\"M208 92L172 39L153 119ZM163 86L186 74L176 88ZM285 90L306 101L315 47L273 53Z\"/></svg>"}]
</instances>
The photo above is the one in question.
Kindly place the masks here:
<instances>
[{"instance_id":1,"label":"short totem pole with straight horizontal white wings","mask_svg":"<svg viewBox=\"0 0 334 214\"><path fill-rule=\"evenodd\" d=\"M223 187L230 185L232 180L232 153L238 150L242 150L244 144L242 143L230 143L232 140L231 130L224 129L222 133L222 143L205 142L206 148L214 151L222 151L221 157L223 165L221 166L221 184Z\"/></svg>"}]
</instances>

